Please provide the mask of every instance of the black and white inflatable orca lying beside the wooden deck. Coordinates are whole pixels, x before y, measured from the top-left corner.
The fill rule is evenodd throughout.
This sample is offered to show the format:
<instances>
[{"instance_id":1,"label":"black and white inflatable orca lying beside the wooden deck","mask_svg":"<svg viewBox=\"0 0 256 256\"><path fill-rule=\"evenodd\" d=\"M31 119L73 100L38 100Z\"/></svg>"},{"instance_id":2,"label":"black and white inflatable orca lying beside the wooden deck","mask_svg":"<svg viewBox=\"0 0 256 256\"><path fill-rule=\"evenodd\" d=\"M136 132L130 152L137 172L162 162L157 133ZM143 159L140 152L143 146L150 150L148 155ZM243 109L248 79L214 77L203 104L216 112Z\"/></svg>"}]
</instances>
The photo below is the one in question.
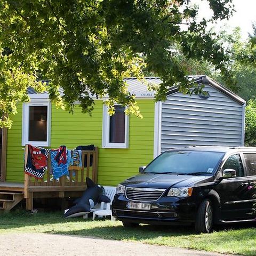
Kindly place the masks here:
<instances>
[{"instance_id":1,"label":"black and white inflatable orca lying beside the wooden deck","mask_svg":"<svg viewBox=\"0 0 256 256\"><path fill-rule=\"evenodd\" d=\"M90 178L86 177L87 189L83 196L74 201L76 205L72 206L65 214L64 218L78 217L91 212L91 208L97 203L110 203L110 199L105 196L105 190L102 186L96 185Z\"/></svg>"}]
</instances>

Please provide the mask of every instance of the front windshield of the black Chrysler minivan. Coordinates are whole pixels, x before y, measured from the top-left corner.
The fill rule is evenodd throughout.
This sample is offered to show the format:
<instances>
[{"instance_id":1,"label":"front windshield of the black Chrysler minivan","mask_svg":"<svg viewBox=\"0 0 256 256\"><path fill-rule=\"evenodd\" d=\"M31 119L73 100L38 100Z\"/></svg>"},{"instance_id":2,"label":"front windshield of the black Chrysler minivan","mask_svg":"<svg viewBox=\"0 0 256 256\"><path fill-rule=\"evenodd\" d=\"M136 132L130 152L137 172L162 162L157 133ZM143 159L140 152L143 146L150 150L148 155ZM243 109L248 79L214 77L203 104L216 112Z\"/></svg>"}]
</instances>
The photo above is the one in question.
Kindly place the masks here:
<instances>
[{"instance_id":1,"label":"front windshield of the black Chrysler minivan","mask_svg":"<svg viewBox=\"0 0 256 256\"><path fill-rule=\"evenodd\" d=\"M213 174L224 153L210 151L166 151L151 162L145 173Z\"/></svg>"}]
</instances>

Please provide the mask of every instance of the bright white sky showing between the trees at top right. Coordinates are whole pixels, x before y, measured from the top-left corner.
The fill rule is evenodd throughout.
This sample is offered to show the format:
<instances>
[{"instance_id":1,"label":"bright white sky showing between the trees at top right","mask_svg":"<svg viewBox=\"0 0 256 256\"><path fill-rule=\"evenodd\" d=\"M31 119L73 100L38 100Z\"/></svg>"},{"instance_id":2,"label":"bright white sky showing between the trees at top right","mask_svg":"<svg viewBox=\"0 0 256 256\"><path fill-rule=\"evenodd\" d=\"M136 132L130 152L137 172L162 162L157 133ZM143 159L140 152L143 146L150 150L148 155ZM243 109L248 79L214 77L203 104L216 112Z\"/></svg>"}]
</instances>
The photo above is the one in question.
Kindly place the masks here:
<instances>
[{"instance_id":1,"label":"bright white sky showing between the trees at top right","mask_svg":"<svg viewBox=\"0 0 256 256\"><path fill-rule=\"evenodd\" d=\"M191 0L199 5L199 17L209 18L209 4L207 0ZM236 12L229 20L218 21L217 30L227 23L229 29L241 27L241 35L246 39L252 33L252 22L256 22L256 0L233 0Z\"/></svg>"}]
</instances>

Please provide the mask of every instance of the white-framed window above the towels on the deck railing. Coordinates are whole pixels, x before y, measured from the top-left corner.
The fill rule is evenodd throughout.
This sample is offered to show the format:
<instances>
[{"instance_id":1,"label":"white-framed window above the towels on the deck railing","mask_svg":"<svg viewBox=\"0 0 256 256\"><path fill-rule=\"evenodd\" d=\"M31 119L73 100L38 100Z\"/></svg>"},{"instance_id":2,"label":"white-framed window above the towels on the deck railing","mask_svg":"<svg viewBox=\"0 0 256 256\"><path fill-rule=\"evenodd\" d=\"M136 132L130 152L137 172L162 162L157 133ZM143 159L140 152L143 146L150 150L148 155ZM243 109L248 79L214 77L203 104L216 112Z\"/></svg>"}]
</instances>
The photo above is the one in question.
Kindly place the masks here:
<instances>
[{"instance_id":1,"label":"white-framed window above the towels on the deck railing","mask_svg":"<svg viewBox=\"0 0 256 256\"><path fill-rule=\"evenodd\" d=\"M22 145L50 146L51 104L48 99L23 103Z\"/></svg>"}]
</instances>

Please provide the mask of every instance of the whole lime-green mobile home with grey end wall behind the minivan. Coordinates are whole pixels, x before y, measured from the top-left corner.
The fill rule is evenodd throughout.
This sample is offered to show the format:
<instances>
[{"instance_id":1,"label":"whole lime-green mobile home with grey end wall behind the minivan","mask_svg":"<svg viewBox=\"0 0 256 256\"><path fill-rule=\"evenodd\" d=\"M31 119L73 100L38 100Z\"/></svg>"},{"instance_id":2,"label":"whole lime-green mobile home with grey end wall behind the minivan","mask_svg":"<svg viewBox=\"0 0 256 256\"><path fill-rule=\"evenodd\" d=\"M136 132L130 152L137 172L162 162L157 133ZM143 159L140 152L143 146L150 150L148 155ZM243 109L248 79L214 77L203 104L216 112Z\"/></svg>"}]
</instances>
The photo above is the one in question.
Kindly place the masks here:
<instances>
[{"instance_id":1,"label":"whole lime-green mobile home with grey end wall behind the minivan","mask_svg":"<svg viewBox=\"0 0 256 256\"><path fill-rule=\"evenodd\" d=\"M47 92L28 91L31 101L19 105L12 129L3 130L2 182L24 181L23 159L26 144L58 148L66 145L95 145L98 154L98 183L116 186L138 173L154 157L174 147L191 145L242 146L245 102L206 76L191 77L204 84L203 95L183 95L171 87L165 102L154 102L154 92L135 78L125 82L135 94L143 118L125 116L115 106L109 116L105 99L95 99L92 116L56 109ZM161 83L147 77L148 83Z\"/></svg>"}]
</instances>

